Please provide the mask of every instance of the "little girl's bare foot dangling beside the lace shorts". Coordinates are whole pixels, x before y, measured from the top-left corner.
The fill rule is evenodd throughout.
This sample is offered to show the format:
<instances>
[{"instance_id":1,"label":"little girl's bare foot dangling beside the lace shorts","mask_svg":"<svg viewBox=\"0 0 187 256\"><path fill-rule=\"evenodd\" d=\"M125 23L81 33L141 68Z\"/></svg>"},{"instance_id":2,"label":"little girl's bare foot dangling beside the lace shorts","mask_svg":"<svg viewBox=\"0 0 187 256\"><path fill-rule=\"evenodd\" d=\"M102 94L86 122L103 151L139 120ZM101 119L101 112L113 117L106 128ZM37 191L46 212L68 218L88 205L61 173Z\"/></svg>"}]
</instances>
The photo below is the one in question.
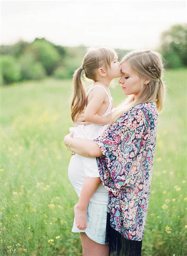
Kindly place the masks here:
<instances>
[{"instance_id":1,"label":"little girl's bare foot dangling beside the lace shorts","mask_svg":"<svg viewBox=\"0 0 187 256\"><path fill-rule=\"evenodd\" d=\"M77 228L84 230L87 227L86 209L82 208L78 203L74 206L75 223Z\"/></svg>"}]
</instances>

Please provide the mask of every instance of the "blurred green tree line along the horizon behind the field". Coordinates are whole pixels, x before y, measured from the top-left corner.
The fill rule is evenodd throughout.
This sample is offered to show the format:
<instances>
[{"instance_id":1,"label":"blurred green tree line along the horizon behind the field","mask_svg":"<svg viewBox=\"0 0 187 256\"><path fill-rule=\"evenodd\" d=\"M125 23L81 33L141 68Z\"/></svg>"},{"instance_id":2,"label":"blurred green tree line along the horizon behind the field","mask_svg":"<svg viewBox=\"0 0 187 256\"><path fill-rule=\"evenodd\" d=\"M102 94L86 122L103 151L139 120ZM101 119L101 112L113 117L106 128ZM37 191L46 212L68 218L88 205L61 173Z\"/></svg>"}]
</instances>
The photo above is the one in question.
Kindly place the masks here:
<instances>
[{"instance_id":1,"label":"blurred green tree line along the horizon behind the field","mask_svg":"<svg viewBox=\"0 0 187 256\"><path fill-rule=\"evenodd\" d=\"M174 25L161 34L159 51L165 68L187 66L187 27ZM129 50L115 49L119 59ZM0 84L8 85L24 80L40 80L46 76L69 79L81 65L85 46L64 47L45 38L28 43L20 40L12 46L0 46Z\"/></svg>"}]
</instances>

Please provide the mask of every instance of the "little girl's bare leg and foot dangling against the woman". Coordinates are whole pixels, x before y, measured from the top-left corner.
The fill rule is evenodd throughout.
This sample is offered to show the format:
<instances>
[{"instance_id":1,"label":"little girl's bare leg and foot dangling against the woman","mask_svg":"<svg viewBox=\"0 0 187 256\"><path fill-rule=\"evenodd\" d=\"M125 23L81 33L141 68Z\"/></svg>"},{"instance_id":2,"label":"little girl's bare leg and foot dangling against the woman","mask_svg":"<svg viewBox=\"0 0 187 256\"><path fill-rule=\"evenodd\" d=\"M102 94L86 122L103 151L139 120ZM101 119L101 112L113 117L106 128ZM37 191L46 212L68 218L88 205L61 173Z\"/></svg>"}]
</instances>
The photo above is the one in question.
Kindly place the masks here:
<instances>
[{"instance_id":1,"label":"little girl's bare leg and foot dangling against the woman","mask_svg":"<svg viewBox=\"0 0 187 256\"><path fill-rule=\"evenodd\" d=\"M100 177L91 178L88 177L83 186L80 193L79 201L74 206L74 213L75 213L75 223L77 228L80 230L84 230L87 227L86 224L86 209L88 207L88 203L90 198L94 194L95 190L101 183Z\"/></svg>"}]
</instances>

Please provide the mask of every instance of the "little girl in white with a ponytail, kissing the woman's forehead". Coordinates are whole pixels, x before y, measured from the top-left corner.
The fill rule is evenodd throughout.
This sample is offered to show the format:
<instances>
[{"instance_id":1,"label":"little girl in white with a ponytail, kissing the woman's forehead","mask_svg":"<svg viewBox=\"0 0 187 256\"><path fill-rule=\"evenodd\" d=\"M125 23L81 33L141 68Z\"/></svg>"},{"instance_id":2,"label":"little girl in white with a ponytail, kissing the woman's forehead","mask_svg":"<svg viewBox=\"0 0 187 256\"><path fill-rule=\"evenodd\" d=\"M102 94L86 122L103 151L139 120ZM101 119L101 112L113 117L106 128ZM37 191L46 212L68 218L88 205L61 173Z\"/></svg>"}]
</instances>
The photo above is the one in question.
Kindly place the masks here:
<instances>
[{"instance_id":1,"label":"little girl in white with a ponytail, kissing the woman's forehead","mask_svg":"<svg viewBox=\"0 0 187 256\"><path fill-rule=\"evenodd\" d=\"M85 71L85 76L94 82L87 94L81 78L83 70ZM84 120L90 124L71 127L69 130L70 133L73 133L73 138L94 139L107 129L108 123L112 118L111 111L113 107L109 85L114 78L118 78L120 75L121 67L114 50L99 47L87 51L82 66L75 71L73 76L74 94L71 103L71 118L75 121L76 115L84 110ZM71 146L71 141L68 146ZM75 222L77 228L84 230L87 227L86 209L92 195L101 183L101 179L96 158L83 156L80 158L84 173L88 178L83 181L84 175L79 173L80 161L78 159L75 160L75 156L71 157L68 174L69 180L79 196L79 201L74 207ZM78 173L76 173L76 167ZM102 184L100 185L102 186ZM102 197L103 201L106 201L108 193L104 193L100 188L98 196L100 197L99 203L102 204Z\"/></svg>"}]
</instances>

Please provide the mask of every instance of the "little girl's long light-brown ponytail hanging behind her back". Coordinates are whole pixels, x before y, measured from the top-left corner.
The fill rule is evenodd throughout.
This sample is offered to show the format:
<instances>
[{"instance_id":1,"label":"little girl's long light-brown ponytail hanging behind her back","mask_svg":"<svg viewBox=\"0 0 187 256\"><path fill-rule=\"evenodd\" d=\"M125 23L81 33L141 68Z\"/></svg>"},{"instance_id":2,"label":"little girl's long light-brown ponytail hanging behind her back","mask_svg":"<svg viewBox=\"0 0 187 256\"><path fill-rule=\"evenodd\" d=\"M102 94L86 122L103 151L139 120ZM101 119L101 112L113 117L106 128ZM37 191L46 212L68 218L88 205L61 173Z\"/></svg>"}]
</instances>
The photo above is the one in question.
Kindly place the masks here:
<instances>
[{"instance_id":1,"label":"little girl's long light-brown ponytail hanging behind her back","mask_svg":"<svg viewBox=\"0 0 187 256\"><path fill-rule=\"evenodd\" d=\"M86 106L86 87L81 77L82 68L78 68L73 75L73 100L71 102L71 118L73 122Z\"/></svg>"}]
</instances>

